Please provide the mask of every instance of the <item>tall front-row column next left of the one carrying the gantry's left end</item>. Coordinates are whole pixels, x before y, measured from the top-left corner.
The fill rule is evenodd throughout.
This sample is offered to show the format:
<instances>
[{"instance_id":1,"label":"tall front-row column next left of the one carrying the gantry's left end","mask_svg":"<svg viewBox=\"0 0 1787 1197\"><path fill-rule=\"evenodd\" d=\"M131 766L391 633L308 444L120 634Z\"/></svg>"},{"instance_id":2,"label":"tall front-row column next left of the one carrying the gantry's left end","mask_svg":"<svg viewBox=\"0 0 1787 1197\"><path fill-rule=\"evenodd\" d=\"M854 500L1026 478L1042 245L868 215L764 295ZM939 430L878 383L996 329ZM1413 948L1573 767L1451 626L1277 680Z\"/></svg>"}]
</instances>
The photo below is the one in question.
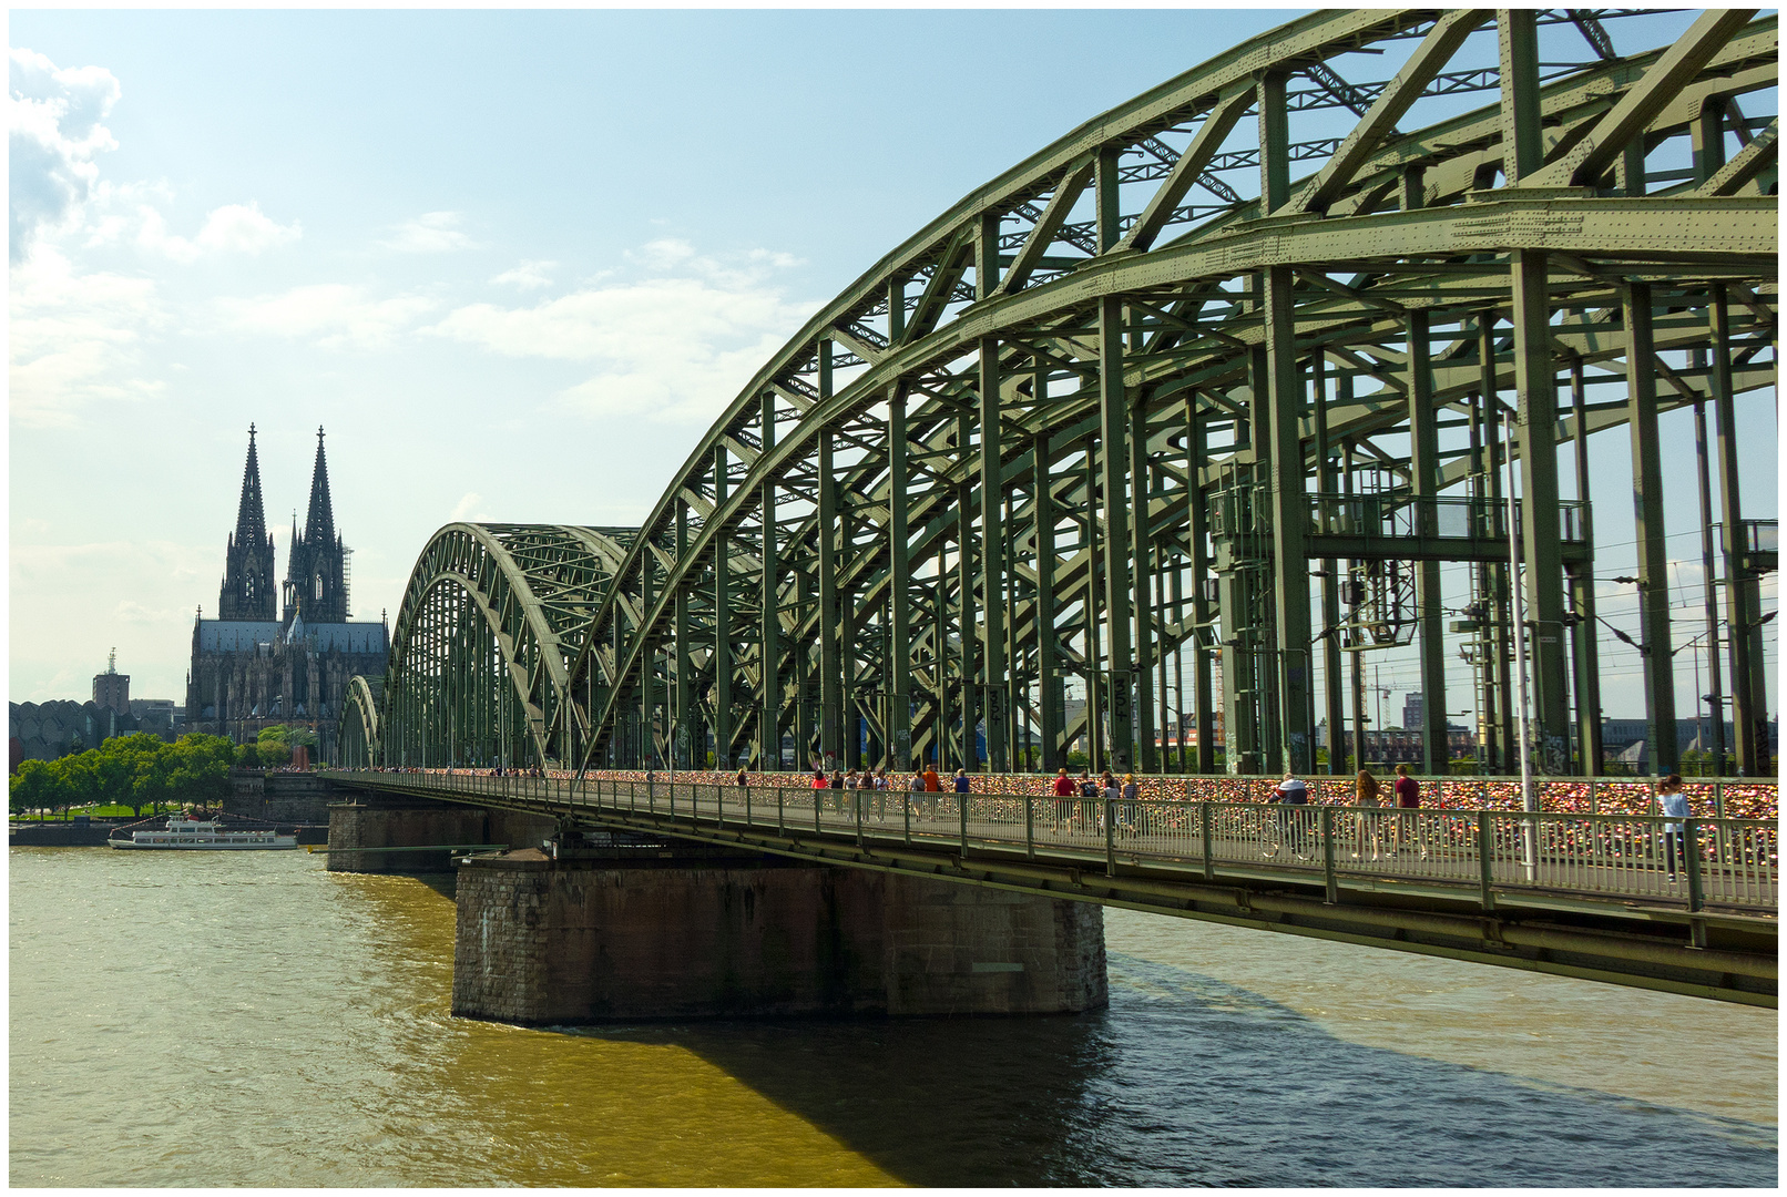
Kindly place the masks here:
<instances>
[{"instance_id":1,"label":"tall front-row column next left of the one carrying the gantry's left end","mask_svg":"<svg viewBox=\"0 0 1787 1197\"><path fill-rule=\"evenodd\" d=\"M1115 772L1133 765L1135 727L1129 711L1133 663L1129 649L1129 518L1124 473L1129 454L1129 397L1122 379L1122 300L1099 298L1099 463L1104 490L1104 620L1110 645L1110 763Z\"/></svg>"}]
</instances>

